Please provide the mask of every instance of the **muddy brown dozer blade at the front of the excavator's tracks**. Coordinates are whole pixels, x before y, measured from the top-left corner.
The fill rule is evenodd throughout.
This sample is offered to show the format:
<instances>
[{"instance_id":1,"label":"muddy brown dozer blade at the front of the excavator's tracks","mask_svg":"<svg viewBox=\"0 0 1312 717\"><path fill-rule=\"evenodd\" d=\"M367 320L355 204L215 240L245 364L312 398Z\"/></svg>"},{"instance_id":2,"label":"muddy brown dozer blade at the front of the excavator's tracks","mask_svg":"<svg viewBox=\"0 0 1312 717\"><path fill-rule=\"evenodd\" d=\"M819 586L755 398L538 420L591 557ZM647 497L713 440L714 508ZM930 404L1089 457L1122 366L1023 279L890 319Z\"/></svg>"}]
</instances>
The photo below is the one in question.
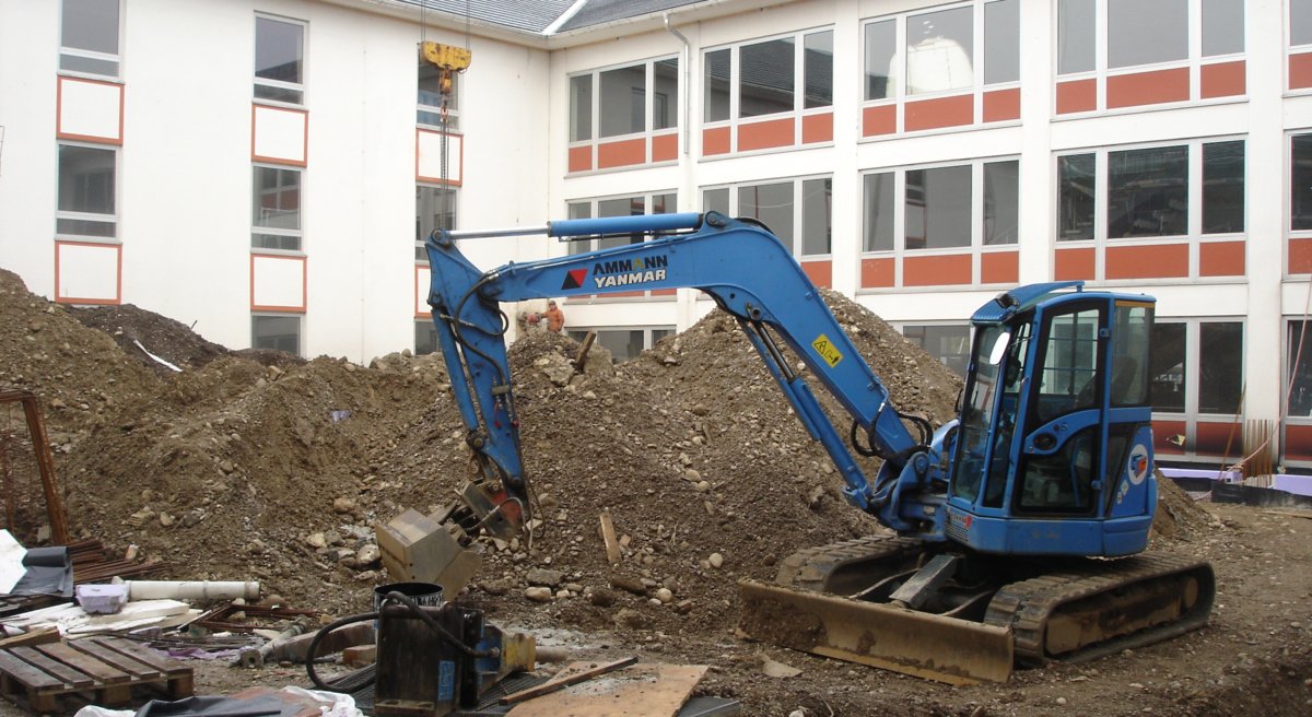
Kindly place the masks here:
<instances>
[{"instance_id":1,"label":"muddy brown dozer blade at the front of the excavator's tracks","mask_svg":"<svg viewBox=\"0 0 1312 717\"><path fill-rule=\"evenodd\" d=\"M764 642L949 684L1012 675L1006 628L756 581L739 592L741 628Z\"/></svg>"}]
</instances>

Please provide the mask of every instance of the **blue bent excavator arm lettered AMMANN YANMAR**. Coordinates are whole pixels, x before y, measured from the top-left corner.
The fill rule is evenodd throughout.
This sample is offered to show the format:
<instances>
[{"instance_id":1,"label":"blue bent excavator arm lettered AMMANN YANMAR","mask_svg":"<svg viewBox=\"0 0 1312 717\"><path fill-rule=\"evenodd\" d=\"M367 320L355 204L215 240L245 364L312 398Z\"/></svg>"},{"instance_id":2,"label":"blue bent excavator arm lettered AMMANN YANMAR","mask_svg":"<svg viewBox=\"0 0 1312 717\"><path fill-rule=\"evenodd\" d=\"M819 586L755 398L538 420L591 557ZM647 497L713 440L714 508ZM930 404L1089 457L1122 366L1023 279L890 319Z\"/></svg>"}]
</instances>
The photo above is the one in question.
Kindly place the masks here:
<instances>
[{"instance_id":1,"label":"blue bent excavator arm lettered AMMANN YANMAR","mask_svg":"<svg viewBox=\"0 0 1312 717\"><path fill-rule=\"evenodd\" d=\"M625 236L634 242L512 262L491 271L474 266L458 246L461 239L517 233L575 240ZM942 539L932 498L929 502L891 499L895 489L901 498L907 485L928 486L946 480L941 473L946 461L929 446L928 422L917 423L921 435L913 438L904 417L891 405L888 389L838 325L819 290L790 249L765 227L716 212L579 219L527 229L438 231L426 248L432 270L429 304L464 419L466 442L475 452L482 480L493 486L485 505L499 509L513 503L513 510L499 510L512 524L527 515L529 488L506 360L504 337L509 321L501 304L693 287L737 320L807 431L838 468L848 501L897 530L920 526L926 533L922 537ZM884 459L876 481L867 480L808 383L786 358L783 346L802 359L851 416L851 448Z\"/></svg>"}]
</instances>

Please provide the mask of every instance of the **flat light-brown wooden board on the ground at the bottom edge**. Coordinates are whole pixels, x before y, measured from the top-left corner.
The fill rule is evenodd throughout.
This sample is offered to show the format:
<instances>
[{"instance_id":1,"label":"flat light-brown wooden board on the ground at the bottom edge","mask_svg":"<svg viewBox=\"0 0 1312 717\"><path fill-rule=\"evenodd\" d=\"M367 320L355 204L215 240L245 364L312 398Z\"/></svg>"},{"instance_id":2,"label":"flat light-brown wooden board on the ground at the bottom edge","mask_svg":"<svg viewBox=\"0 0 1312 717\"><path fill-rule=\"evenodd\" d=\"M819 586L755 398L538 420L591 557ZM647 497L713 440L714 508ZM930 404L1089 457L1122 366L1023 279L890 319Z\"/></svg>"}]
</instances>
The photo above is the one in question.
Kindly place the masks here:
<instances>
[{"instance_id":1,"label":"flat light-brown wooden board on the ground at the bottom edge","mask_svg":"<svg viewBox=\"0 0 1312 717\"><path fill-rule=\"evenodd\" d=\"M576 662L567 671L584 670ZM634 665L514 705L509 717L674 717L706 674L705 665Z\"/></svg>"}]
</instances>

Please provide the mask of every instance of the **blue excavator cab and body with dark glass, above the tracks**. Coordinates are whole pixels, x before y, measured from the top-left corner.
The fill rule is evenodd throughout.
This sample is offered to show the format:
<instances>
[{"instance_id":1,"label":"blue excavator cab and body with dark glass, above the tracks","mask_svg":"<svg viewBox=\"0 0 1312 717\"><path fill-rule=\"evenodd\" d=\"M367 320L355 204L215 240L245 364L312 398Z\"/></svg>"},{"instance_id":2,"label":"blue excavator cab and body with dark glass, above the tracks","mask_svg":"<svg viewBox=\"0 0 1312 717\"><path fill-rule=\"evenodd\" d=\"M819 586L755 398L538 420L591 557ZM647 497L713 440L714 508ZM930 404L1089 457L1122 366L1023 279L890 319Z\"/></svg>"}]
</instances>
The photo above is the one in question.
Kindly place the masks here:
<instances>
[{"instance_id":1,"label":"blue excavator cab and body with dark glass, above the tracks","mask_svg":"<svg viewBox=\"0 0 1312 717\"><path fill-rule=\"evenodd\" d=\"M975 313L950 539L1006 554L1144 549L1156 505L1152 320L1153 299L1082 282L1026 286Z\"/></svg>"}]
</instances>

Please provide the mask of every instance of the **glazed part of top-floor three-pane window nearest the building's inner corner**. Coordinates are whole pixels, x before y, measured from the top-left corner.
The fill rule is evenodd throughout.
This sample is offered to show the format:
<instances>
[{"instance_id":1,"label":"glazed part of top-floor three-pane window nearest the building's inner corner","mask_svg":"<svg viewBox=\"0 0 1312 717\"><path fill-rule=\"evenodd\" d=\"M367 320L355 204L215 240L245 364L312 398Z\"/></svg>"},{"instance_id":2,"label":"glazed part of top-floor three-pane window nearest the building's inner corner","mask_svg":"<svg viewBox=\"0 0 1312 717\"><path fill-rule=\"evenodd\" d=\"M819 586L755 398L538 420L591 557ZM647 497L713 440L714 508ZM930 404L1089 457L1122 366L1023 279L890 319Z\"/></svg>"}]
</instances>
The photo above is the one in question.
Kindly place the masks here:
<instances>
[{"instance_id":1,"label":"glazed part of top-floor three-pane window nearest the building's inner corner","mask_svg":"<svg viewBox=\"0 0 1312 717\"><path fill-rule=\"evenodd\" d=\"M676 127L678 58L652 59L569 77L571 143Z\"/></svg>"}]
</instances>

